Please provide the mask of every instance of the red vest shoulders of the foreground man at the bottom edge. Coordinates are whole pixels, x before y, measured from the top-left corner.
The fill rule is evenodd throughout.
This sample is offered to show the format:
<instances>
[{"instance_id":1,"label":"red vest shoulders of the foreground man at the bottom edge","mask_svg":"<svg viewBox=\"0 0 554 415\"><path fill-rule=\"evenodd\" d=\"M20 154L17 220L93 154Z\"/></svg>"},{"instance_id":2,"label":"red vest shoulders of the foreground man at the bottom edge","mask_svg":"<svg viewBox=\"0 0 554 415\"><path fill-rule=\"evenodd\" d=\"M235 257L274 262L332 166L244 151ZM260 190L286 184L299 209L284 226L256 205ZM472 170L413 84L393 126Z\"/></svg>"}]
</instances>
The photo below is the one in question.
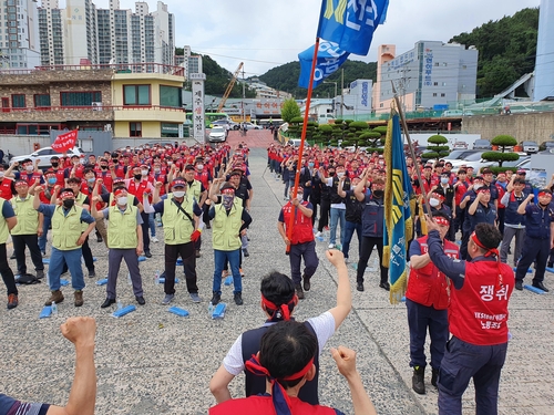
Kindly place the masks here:
<instances>
[{"instance_id":1,"label":"red vest shoulders of the foreground man at the bottom edge","mask_svg":"<svg viewBox=\"0 0 554 415\"><path fill-rule=\"evenodd\" d=\"M328 406L310 405L297 397L289 397L293 415L336 415L335 409ZM212 406L209 415L259 415L275 414L271 396L250 396L239 400L229 400Z\"/></svg>"}]
</instances>

